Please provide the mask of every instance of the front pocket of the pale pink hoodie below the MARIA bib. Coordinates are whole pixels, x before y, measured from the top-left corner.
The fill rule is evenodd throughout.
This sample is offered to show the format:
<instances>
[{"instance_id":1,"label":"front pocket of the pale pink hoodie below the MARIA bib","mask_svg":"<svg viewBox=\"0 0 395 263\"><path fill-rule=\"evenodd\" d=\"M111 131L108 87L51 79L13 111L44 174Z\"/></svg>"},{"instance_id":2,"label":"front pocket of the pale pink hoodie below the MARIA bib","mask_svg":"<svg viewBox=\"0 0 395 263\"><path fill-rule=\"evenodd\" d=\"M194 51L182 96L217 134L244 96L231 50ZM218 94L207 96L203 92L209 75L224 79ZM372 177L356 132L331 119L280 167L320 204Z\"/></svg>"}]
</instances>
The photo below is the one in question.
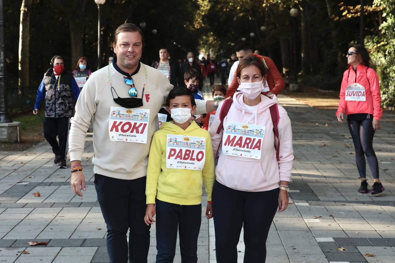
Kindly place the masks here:
<instances>
[{"instance_id":1,"label":"front pocket of the pale pink hoodie below the MARIA bib","mask_svg":"<svg viewBox=\"0 0 395 263\"><path fill-rule=\"evenodd\" d=\"M224 157L218 170L218 178L227 187L242 191L254 191L267 186L261 161L241 157Z\"/></svg>"}]
</instances>

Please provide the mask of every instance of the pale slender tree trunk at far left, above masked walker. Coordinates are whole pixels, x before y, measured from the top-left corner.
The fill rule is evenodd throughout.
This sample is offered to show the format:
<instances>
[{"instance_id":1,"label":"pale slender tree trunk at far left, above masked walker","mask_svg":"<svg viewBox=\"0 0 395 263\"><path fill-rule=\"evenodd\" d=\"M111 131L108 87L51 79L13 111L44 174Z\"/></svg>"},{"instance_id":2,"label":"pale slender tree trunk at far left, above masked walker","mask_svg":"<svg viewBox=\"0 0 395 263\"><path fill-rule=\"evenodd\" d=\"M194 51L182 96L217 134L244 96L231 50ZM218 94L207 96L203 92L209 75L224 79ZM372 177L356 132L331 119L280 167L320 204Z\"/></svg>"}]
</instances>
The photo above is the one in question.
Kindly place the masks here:
<instances>
[{"instance_id":1,"label":"pale slender tree trunk at far left, above masked walker","mask_svg":"<svg viewBox=\"0 0 395 263\"><path fill-rule=\"evenodd\" d=\"M30 6L32 0L22 0L21 19L19 22L19 50L18 50L18 93L22 93L22 88L29 85L29 24Z\"/></svg>"}]
</instances>

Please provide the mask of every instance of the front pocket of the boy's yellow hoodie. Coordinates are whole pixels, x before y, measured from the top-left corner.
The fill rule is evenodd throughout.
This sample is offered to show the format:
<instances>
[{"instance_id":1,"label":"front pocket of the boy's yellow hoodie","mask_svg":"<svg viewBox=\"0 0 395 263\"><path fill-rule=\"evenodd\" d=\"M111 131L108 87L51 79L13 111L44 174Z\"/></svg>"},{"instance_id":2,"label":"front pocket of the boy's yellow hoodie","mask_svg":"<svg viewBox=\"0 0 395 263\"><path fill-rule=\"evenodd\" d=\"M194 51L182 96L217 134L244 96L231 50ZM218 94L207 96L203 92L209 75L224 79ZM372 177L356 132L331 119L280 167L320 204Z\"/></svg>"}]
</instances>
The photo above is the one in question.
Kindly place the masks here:
<instances>
[{"instance_id":1,"label":"front pocket of the boy's yellow hoodie","mask_svg":"<svg viewBox=\"0 0 395 263\"><path fill-rule=\"evenodd\" d=\"M202 185L200 173L169 173L158 181L158 190L174 196L201 196Z\"/></svg>"}]
</instances>

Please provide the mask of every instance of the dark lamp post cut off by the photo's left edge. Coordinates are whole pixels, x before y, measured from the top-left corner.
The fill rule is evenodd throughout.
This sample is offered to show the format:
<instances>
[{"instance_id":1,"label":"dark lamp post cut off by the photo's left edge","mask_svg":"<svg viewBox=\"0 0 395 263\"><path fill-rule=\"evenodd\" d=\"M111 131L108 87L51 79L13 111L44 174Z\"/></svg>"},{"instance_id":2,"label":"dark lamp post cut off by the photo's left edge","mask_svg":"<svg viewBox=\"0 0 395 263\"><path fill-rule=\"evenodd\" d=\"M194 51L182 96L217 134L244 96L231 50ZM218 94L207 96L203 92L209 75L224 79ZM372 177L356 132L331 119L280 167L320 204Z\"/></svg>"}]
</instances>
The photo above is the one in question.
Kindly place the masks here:
<instances>
[{"instance_id":1,"label":"dark lamp post cut off by the photo's left edge","mask_svg":"<svg viewBox=\"0 0 395 263\"><path fill-rule=\"evenodd\" d=\"M4 3L0 0L0 123L10 123L12 121L8 117L4 52Z\"/></svg>"}]
</instances>

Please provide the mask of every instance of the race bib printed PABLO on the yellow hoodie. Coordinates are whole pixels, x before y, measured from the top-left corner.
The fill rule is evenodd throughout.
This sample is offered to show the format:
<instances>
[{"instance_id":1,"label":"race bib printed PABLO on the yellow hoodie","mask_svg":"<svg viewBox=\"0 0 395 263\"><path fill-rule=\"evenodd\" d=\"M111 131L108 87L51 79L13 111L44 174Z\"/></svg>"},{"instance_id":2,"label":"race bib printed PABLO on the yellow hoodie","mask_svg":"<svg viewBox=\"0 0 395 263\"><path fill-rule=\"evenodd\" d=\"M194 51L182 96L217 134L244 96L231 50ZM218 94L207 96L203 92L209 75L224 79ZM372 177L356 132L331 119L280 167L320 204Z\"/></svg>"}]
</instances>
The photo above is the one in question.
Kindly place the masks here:
<instances>
[{"instance_id":1,"label":"race bib printed PABLO on the yellow hoodie","mask_svg":"<svg viewBox=\"0 0 395 263\"><path fill-rule=\"evenodd\" d=\"M206 138L168 134L166 167L202 170L206 155Z\"/></svg>"}]
</instances>

